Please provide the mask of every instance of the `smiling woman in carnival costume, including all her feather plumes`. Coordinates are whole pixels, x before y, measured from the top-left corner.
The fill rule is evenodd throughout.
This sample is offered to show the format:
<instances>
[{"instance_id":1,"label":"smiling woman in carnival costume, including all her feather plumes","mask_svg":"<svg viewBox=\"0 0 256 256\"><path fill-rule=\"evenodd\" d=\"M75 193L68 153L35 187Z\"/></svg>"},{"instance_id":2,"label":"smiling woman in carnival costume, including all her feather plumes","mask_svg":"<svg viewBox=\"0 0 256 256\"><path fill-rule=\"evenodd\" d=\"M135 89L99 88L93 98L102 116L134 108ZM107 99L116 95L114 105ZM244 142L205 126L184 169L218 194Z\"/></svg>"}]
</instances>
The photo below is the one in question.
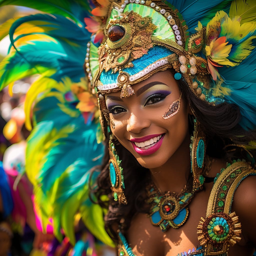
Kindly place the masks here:
<instances>
[{"instance_id":1,"label":"smiling woman in carnival costume, including all her feather plumes","mask_svg":"<svg viewBox=\"0 0 256 256\"><path fill-rule=\"evenodd\" d=\"M75 244L81 216L119 256L252 255L255 1L12 2L41 10L5 24L0 85L41 75L26 169L44 229Z\"/></svg>"}]
</instances>

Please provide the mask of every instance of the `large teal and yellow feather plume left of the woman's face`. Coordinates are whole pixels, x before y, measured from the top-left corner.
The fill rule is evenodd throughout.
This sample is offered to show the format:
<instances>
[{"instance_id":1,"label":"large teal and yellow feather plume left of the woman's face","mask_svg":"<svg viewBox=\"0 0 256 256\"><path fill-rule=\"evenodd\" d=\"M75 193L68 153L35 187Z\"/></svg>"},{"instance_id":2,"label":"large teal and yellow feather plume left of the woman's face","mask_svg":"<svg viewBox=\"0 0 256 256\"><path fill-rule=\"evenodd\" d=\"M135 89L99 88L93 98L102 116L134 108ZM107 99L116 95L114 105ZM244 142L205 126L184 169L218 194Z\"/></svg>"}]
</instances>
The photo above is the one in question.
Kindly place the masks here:
<instances>
[{"instance_id":1,"label":"large teal and yellow feather plume left of the woman's face","mask_svg":"<svg viewBox=\"0 0 256 256\"><path fill-rule=\"evenodd\" d=\"M0 6L5 4L28 3L0 1ZM82 66L90 34L84 28L83 18L89 15L88 3L33 1L29 7L50 14L30 15L6 25L12 45L1 63L0 86L40 74L25 103L29 117L36 102L26 150L26 172L34 185L35 209L43 229L52 218L55 236L61 240L63 230L74 244L74 217L85 216L87 207L93 206L88 198L90 169L101 164L103 154L103 145L96 139L99 123L93 119L85 123L76 109L76 95L71 92L72 84L84 77ZM4 33L6 30L2 36ZM66 99L68 93L72 99ZM90 214L99 218L90 229L92 234L113 246L104 230L103 211L92 207Z\"/></svg>"}]
</instances>

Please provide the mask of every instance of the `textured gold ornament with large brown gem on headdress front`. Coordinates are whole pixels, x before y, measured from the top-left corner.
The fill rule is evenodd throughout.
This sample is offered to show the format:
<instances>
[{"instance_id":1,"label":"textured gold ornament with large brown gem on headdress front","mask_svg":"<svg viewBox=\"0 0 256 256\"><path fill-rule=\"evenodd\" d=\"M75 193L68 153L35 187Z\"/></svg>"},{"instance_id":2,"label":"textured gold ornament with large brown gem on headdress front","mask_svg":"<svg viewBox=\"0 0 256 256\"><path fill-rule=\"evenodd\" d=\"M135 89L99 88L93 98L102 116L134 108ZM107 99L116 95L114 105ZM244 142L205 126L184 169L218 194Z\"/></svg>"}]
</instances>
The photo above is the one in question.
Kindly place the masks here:
<instances>
[{"instance_id":1,"label":"textured gold ornament with large brown gem on headdress front","mask_svg":"<svg viewBox=\"0 0 256 256\"><path fill-rule=\"evenodd\" d=\"M114 16L106 27L108 38L99 47L100 71L117 72L132 67L132 60L142 57L153 47L151 36L157 27L151 17L131 11Z\"/></svg>"}]
</instances>

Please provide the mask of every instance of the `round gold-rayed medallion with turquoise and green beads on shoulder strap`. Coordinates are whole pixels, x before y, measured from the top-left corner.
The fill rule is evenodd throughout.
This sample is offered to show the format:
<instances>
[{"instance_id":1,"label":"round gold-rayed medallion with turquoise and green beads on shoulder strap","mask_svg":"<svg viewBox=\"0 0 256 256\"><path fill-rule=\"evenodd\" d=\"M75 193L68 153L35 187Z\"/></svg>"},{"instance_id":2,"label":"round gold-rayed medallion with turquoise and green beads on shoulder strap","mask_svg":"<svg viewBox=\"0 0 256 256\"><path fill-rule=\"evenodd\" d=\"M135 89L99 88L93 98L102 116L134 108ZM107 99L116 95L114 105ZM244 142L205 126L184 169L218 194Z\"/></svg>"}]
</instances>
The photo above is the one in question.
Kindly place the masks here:
<instances>
[{"instance_id":1,"label":"round gold-rayed medallion with turquoise and green beads on shoulder strap","mask_svg":"<svg viewBox=\"0 0 256 256\"><path fill-rule=\"evenodd\" d=\"M226 253L230 245L241 240L241 223L235 212L223 212L209 215L206 219L201 217L197 226L198 240L206 246L206 255L220 255Z\"/></svg>"}]
</instances>

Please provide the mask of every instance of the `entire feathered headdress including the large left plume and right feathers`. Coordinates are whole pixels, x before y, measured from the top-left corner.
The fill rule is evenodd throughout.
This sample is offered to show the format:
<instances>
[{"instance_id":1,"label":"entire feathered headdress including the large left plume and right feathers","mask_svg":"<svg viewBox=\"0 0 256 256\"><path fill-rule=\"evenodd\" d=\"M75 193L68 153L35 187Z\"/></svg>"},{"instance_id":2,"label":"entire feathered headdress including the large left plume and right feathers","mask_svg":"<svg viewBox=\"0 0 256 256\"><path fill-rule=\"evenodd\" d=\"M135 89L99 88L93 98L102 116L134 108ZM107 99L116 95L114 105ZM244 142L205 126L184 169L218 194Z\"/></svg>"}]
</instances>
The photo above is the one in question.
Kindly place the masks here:
<instances>
[{"instance_id":1,"label":"entire feathered headdress including the large left plume and right feathers","mask_svg":"<svg viewBox=\"0 0 256 256\"><path fill-rule=\"evenodd\" d=\"M72 220L80 212L89 230L112 244L102 209L88 198L89 170L103 154L96 143L102 113L89 87L94 94L121 90L127 97L133 84L174 68L175 78L202 100L237 104L241 126L256 128L252 0L212 0L207 8L202 0L98 0L95 6L82 0L0 1L7 4L39 10L1 26L0 39L9 34L11 46L0 64L0 86L40 75L25 102L26 125L33 126L26 172L43 227L52 218L59 239L63 229L74 243Z\"/></svg>"}]
</instances>

